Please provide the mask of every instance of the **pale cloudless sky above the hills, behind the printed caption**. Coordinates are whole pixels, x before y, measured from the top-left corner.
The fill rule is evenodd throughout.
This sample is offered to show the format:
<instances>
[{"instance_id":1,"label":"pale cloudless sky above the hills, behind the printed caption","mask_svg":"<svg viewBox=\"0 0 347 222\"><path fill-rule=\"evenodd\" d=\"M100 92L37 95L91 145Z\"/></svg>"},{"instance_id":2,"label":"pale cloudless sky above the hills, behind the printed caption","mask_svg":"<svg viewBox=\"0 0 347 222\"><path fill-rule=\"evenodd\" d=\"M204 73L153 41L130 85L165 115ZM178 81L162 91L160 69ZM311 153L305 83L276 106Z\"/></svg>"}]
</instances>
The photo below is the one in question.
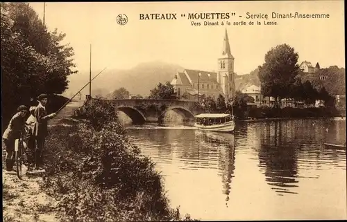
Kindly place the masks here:
<instances>
[{"instance_id":1,"label":"pale cloudless sky above the hills, behind the printed caption","mask_svg":"<svg viewBox=\"0 0 347 222\"><path fill-rule=\"evenodd\" d=\"M44 3L30 3L40 18ZM185 13L235 12L230 19L214 19L219 26L192 26ZM265 19L246 19L246 13L269 14ZM272 19L271 13L325 13L329 19ZM140 20L139 14L177 13L174 20ZM128 23L117 24L117 15L125 14ZM241 17L240 17L241 16ZM217 70L223 37L228 30L230 48L235 57L235 72L245 74L264 62L264 55L278 44L289 44L299 55L321 68L345 66L344 1L226 1L226 2L107 2L46 3L46 26L66 33L64 43L74 48L79 71L88 71L90 44L92 70L128 69L142 62L162 61L184 68ZM250 26L249 21L260 21ZM195 20L207 21L207 20ZM222 26L229 21L230 26ZM246 26L232 25L246 21Z\"/></svg>"}]
</instances>

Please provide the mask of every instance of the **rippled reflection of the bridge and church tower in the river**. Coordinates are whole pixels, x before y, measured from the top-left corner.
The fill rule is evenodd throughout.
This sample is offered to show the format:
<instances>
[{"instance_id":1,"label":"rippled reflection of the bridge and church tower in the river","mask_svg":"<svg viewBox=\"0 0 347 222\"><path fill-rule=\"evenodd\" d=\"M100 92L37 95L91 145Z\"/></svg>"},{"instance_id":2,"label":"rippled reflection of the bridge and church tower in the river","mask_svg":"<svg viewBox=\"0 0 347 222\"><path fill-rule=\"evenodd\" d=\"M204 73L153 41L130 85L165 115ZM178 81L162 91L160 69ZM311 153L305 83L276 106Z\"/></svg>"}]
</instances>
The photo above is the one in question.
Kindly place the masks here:
<instances>
[{"instance_id":1,"label":"rippled reflection of the bridge and church tower in the river","mask_svg":"<svg viewBox=\"0 0 347 222\"><path fill-rule=\"evenodd\" d=\"M230 183L235 170L235 137L232 134L185 129L128 131L131 140L142 147L145 155L162 167L174 166L174 174L180 170L217 170L216 176L221 178L223 185L219 189L226 195L226 201L229 200ZM165 175L165 172L163 174Z\"/></svg>"}]
</instances>

